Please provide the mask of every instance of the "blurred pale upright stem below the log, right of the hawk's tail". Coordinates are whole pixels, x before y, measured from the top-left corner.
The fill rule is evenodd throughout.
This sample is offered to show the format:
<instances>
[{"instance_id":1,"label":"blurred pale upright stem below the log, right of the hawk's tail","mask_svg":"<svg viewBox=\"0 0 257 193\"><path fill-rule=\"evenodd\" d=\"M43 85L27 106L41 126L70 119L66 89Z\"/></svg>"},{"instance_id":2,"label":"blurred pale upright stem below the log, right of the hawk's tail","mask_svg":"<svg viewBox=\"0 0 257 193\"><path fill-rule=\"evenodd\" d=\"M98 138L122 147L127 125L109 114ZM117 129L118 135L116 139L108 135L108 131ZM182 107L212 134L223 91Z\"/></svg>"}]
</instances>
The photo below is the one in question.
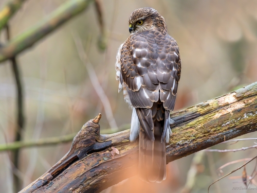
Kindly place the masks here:
<instances>
[{"instance_id":1,"label":"blurred pale upright stem below the log, right of the hawk's tail","mask_svg":"<svg viewBox=\"0 0 257 193\"><path fill-rule=\"evenodd\" d=\"M204 151L199 151L194 154L190 169L188 171L186 184L181 190L182 193L190 193L195 185L197 174L204 171L204 155Z\"/></svg>"}]
</instances>

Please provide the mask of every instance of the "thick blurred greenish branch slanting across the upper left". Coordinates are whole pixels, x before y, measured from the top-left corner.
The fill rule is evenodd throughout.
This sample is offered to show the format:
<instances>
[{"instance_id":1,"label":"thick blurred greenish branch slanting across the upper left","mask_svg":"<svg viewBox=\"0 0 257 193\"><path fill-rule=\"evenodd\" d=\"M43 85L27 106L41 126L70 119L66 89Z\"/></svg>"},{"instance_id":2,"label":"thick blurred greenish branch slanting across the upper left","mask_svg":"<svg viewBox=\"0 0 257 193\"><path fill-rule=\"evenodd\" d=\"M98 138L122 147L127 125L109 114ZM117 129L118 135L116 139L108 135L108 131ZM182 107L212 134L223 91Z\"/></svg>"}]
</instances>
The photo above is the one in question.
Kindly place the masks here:
<instances>
[{"instance_id":1,"label":"thick blurred greenish branch slanting across the upper left","mask_svg":"<svg viewBox=\"0 0 257 193\"><path fill-rule=\"evenodd\" d=\"M93 0L70 0L53 11L49 16L13 38L6 46L0 49L0 62L12 58L21 51L31 47L34 43L44 38L66 23L75 15L85 10Z\"/></svg>"}]
</instances>

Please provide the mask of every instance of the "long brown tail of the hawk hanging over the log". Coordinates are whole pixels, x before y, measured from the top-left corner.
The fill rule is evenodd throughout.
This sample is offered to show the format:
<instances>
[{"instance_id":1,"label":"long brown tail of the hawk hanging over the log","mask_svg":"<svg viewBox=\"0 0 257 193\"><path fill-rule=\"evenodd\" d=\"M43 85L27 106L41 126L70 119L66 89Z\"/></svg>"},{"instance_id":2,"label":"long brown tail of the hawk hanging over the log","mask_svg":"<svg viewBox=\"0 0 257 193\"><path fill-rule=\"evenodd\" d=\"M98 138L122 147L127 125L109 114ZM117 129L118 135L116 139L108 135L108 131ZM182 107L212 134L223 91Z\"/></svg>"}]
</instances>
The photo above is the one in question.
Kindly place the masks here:
<instances>
[{"instance_id":1,"label":"long brown tail of the hawk hanging over the log","mask_svg":"<svg viewBox=\"0 0 257 193\"><path fill-rule=\"evenodd\" d=\"M170 129L170 111L158 101L151 109L136 108L140 122L139 175L146 182L166 179L166 135Z\"/></svg>"}]
</instances>

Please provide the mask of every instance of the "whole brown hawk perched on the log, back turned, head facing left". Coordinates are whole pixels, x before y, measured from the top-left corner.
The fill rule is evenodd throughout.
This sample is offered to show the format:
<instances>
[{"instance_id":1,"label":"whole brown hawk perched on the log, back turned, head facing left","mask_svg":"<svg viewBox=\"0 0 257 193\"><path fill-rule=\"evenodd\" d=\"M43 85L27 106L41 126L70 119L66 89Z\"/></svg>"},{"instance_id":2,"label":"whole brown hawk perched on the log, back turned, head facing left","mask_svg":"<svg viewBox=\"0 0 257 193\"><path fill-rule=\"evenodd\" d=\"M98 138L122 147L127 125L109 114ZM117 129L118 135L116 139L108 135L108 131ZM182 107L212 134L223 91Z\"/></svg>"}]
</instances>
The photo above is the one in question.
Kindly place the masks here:
<instances>
[{"instance_id":1,"label":"whole brown hawk perched on the log, back turned, head facing left","mask_svg":"<svg viewBox=\"0 0 257 193\"><path fill-rule=\"evenodd\" d=\"M166 143L181 72L179 49L164 18L140 8L128 20L130 36L116 56L119 92L132 108L130 141L139 136L139 174L146 182L166 179Z\"/></svg>"}]
</instances>

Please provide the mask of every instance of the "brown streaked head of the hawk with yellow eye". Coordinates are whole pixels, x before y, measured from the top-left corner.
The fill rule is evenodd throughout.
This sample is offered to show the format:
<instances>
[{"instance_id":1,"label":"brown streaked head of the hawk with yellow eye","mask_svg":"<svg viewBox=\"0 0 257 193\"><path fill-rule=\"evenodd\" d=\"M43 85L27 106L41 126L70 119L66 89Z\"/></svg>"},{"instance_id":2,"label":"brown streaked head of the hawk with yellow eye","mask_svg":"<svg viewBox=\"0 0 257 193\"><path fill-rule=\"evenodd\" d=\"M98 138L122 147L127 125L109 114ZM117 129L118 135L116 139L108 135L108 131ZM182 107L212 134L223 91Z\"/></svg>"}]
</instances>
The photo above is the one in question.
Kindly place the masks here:
<instances>
[{"instance_id":1,"label":"brown streaked head of the hawk with yellow eye","mask_svg":"<svg viewBox=\"0 0 257 193\"><path fill-rule=\"evenodd\" d=\"M137 33L145 30L153 29L154 27L167 28L164 18L151 7L136 9L131 13L128 19L130 33Z\"/></svg>"}]
</instances>

